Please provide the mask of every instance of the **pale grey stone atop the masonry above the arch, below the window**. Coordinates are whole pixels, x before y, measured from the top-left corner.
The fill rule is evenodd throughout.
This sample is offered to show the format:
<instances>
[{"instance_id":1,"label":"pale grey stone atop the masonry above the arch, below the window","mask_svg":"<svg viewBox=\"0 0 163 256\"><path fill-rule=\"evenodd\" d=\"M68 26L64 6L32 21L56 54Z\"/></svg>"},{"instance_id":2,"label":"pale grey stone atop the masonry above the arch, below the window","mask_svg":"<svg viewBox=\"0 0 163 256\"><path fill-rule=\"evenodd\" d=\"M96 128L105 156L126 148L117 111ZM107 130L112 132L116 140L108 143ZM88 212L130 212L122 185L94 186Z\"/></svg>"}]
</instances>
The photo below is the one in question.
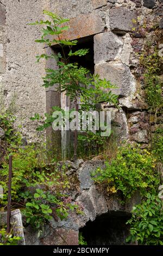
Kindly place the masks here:
<instances>
[{"instance_id":1,"label":"pale grey stone atop the masonry above the arch, below the window","mask_svg":"<svg viewBox=\"0 0 163 256\"><path fill-rule=\"evenodd\" d=\"M102 161L86 161L83 166L79 168L78 177L80 180L80 188L82 190L90 188L94 183L91 178L91 173L98 167L104 167L104 163Z\"/></svg>"}]
</instances>

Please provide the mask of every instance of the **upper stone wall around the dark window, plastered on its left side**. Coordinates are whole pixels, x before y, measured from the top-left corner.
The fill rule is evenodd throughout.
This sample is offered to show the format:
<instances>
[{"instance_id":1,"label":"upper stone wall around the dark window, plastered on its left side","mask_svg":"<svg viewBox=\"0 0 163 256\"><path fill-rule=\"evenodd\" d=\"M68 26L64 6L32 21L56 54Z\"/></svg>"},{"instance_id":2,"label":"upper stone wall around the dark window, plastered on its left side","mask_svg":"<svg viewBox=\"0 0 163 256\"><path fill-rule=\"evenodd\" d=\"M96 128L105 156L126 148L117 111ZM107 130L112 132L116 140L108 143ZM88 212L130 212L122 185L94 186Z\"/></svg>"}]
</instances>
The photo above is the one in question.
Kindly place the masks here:
<instances>
[{"instance_id":1,"label":"upper stone wall around the dark window, plastered on its left side","mask_svg":"<svg viewBox=\"0 0 163 256\"><path fill-rule=\"evenodd\" d=\"M79 39L94 36L95 72L116 84L119 107L103 105L112 112L112 127L120 139L148 143L147 105L143 99L142 84L137 80L143 36L133 33L137 17L148 22L157 19L162 26L161 0L2 0L0 2L0 84L5 104L15 99L16 126L28 141L41 136L30 121L34 113L45 113L60 104L55 89L46 92L41 88L45 67L54 66L42 60L35 64L36 54L43 52L42 45L34 42L39 28L28 26L42 18L48 9L70 18L70 31L62 36ZM140 22L141 23L141 22ZM50 50L50 49L49 49ZM46 51L46 50L45 50ZM138 54L139 55L139 54ZM141 125L140 125L141 124ZM42 133L44 136L45 133Z\"/></svg>"}]
</instances>

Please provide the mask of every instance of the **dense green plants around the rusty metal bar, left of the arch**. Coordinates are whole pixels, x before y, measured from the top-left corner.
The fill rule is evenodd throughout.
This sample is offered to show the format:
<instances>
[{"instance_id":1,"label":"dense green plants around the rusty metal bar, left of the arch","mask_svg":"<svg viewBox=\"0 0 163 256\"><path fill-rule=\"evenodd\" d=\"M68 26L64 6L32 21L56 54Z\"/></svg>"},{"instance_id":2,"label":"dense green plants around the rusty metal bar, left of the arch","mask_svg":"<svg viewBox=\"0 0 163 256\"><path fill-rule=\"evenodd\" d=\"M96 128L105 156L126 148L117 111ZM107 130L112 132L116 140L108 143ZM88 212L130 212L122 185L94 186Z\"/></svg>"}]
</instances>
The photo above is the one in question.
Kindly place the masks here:
<instances>
[{"instance_id":1,"label":"dense green plants around the rusty metal bar, left of the arch","mask_svg":"<svg viewBox=\"0 0 163 256\"><path fill-rule=\"evenodd\" d=\"M13 128L12 115L3 114L2 120L7 148L0 172L0 185L4 192L3 199L0 199L0 210L3 211L7 207L8 160L9 154L12 154L12 209L21 207L27 224L32 225L40 234L43 225L51 220L52 216L62 220L73 210L82 214L82 209L72 203L67 193L70 189L70 181L66 175L67 167L55 161L48 163L46 145L22 146L21 135L18 133L17 137ZM4 234L4 230L2 231Z\"/></svg>"}]
</instances>

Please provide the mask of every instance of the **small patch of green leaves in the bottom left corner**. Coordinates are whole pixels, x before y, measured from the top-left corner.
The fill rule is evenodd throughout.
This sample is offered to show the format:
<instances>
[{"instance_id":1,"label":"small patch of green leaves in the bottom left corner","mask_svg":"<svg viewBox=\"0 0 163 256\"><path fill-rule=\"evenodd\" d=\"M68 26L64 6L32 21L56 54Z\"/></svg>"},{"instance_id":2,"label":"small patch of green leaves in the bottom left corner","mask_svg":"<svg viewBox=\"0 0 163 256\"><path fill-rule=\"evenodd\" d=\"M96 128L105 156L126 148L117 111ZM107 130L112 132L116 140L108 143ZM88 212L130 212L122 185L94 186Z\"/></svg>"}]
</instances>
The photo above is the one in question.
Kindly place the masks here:
<instances>
[{"instance_id":1,"label":"small patch of green leaves in the bottom left corner","mask_svg":"<svg viewBox=\"0 0 163 256\"><path fill-rule=\"evenodd\" d=\"M22 237L8 234L5 228L0 230L0 245L17 245L20 240L22 240Z\"/></svg>"}]
</instances>

